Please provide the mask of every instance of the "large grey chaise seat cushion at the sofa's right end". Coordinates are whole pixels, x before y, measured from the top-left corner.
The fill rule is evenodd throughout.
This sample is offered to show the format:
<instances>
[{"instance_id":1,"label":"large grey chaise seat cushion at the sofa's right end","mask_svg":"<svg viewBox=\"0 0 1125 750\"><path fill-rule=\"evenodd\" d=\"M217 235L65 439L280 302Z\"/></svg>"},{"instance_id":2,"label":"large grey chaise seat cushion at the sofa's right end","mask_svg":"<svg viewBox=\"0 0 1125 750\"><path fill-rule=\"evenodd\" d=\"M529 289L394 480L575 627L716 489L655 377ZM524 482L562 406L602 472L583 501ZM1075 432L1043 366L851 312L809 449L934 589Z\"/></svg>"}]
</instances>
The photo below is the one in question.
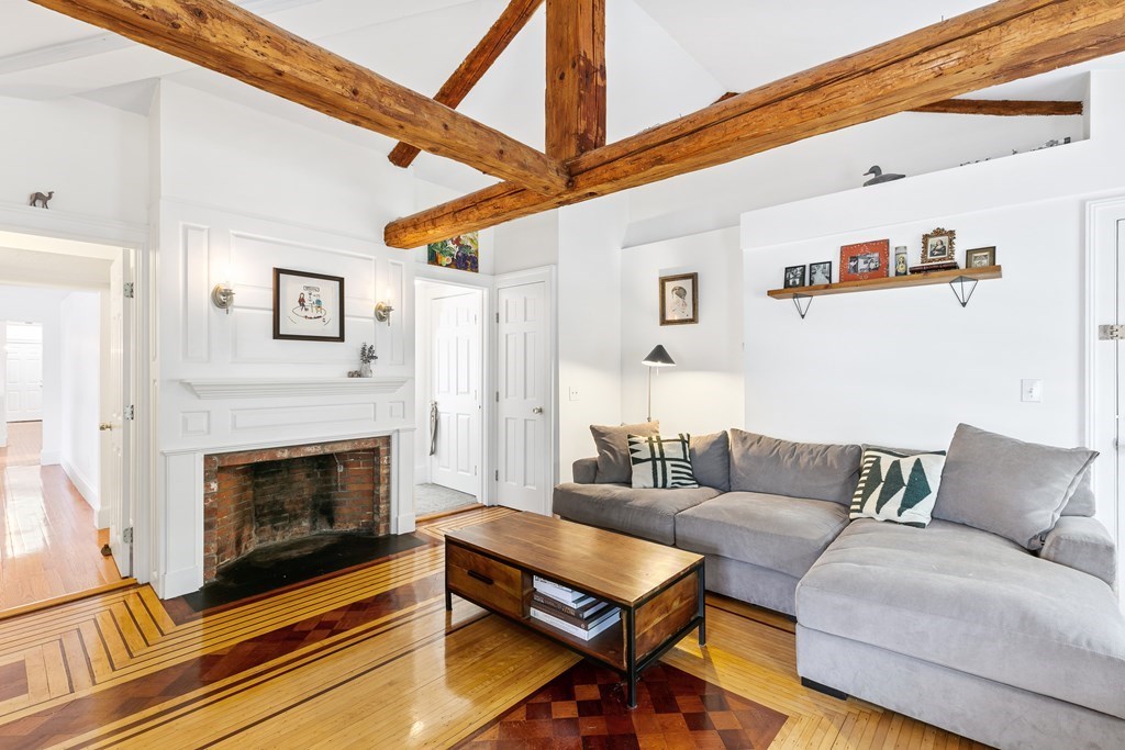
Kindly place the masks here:
<instances>
[{"instance_id":1,"label":"large grey chaise seat cushion at the sofa's right end","mask_svg":"<svg viewBox=\"0 0 1125 750\"><path fill-rule=\"evenodd\" d=\"M1125 617L1114 593L988 532L856 521L798 585L796 616L1125 719Z\"/></svg>"}]
</instances>

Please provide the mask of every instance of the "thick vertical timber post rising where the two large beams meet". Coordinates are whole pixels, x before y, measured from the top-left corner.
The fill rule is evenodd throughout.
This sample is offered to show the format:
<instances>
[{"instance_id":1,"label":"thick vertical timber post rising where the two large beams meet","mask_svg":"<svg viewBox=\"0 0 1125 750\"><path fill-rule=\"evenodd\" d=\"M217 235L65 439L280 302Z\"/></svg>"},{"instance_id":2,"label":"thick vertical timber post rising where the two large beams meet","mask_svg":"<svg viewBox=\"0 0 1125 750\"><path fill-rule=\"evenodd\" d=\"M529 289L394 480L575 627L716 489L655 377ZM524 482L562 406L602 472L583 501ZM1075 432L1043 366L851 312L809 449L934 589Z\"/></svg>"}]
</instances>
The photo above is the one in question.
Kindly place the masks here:
<instances>
[{"instance_id":1,"label":"thick vertical timber post rising where the two large beams meet","mask_svg":"<svg viewBox=\"0 0 1125 750\"><path fill-rule=\"evenodd\" d=\"M547 0L547 155L605 145L605 0Z\"/></svg>"}]
</instances>

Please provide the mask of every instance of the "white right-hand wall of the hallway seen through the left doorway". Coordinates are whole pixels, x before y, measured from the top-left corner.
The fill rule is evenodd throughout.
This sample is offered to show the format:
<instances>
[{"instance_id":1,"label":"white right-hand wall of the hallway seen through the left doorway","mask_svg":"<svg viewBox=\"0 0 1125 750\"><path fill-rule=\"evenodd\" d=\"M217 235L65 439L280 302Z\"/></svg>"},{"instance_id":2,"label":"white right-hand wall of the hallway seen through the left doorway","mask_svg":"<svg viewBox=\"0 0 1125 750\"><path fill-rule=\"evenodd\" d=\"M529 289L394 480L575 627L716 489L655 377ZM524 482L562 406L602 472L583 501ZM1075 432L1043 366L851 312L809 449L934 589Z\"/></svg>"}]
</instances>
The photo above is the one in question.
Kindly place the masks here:
<instances>
[{"instance_id":1,"label":"white right-hand wall of the hallway seen through the left doorway","mask_svg":"<svg viewBox=\"0 0 1125 750\"><path fill-rule=\"evenodd\" d=\"M75 291L60 305L62 414L58 459L90 506L101 508L101 295Z\"/></svg>"}]
</instances>

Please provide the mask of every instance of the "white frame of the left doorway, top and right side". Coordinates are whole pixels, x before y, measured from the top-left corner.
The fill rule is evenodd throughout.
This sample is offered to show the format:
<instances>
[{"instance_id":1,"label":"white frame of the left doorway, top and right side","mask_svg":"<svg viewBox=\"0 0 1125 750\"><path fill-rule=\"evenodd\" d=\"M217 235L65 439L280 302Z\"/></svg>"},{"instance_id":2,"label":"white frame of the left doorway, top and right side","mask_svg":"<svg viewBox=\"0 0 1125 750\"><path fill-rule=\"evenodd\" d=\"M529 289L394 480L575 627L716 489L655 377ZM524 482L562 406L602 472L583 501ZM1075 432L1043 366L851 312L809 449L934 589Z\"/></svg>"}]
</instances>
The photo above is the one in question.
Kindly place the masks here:
<instances>
[{"instance_id":1,"label":"white frame of the left doorway, top and right side","mask_svg":"<svg viewBox=\"0 0 1125 750\"><path fill-rule=\"evenodd\" d=\"M98 219L60 210L0 204L0 229L20 234L110 245L133 252L135 297L128 368L136 418L129 435L128 506L133 515L133 577L142 584L155 580L160 546L156 488L156 262L150 252L150 227L142 224Z\"/></svg>"}]
</instances>

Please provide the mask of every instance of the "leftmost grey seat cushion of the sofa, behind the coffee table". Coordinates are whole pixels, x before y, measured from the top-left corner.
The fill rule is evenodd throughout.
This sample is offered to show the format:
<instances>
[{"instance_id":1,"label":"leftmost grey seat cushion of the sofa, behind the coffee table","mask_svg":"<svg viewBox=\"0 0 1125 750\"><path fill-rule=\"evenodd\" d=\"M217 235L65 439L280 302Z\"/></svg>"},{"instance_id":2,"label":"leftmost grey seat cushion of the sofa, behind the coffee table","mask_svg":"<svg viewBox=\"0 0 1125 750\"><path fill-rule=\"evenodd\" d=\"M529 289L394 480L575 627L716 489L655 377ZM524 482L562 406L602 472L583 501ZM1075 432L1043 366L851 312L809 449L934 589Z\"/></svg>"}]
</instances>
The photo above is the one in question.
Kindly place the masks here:
<instances>
[{"instance_id":1,"label":"leftmost grey seat cushion of the sofa, behind the coffee table","mask_svg":"<svg viewBox=\"0 0 1125 750\"><path fill-rule=\"evenodd\" d=\"M567 484L555 488L552 512L568 521L675 544L675 515L718 495L711 487L632 489Z\"/></svg>"}]
</instances>

